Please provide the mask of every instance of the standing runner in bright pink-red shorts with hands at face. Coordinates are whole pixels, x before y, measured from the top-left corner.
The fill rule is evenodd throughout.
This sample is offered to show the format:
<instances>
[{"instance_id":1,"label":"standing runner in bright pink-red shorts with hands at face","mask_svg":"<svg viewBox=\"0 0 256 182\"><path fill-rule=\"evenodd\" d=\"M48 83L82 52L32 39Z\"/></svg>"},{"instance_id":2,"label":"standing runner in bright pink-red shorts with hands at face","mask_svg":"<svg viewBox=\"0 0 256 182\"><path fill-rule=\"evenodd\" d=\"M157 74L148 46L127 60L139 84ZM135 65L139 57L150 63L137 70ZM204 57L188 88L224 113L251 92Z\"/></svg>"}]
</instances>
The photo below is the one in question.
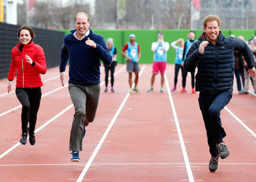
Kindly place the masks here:
<instances>
[{"instance_id":1,"label":"standing runner in bright pink-red shorts with hands at face","mask_svg":"<svg viewBox=\"0 0 256 182\"><path fill-rule=\"evenodd\" d=\"M151 50L154 52L153 58L153 69L152 69L152 77L151 77L151 87L147 92L151 92L153 90L153 85L155 82L156 74L160 71L161 73L161 89L160 92L164 92L164 71L166 68L167 62L167 51L170 46L168 42L164 42L164 34L163 32L157 33L157 41L152 43Z\"/></svg>"}]
</instances>

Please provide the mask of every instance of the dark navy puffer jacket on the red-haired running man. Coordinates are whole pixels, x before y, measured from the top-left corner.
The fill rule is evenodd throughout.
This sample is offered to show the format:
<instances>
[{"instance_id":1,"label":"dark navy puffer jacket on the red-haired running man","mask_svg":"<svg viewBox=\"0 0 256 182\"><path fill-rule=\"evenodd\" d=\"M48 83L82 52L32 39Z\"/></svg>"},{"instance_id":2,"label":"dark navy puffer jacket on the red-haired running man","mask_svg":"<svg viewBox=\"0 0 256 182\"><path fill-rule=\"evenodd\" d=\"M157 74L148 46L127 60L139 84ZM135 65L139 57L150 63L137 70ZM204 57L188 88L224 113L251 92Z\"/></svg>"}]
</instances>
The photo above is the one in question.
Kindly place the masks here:
<instances>
[{"instance_id":1,"label":"dark navy puffer jacket on the red-haired running man","mask_svg":"<svg viewBox=\"0 0 256 182\"><path fill-rule=\"evenodd\" d=\"M232 90L234 82L235 58L234 50L240 51L249 69L254 66L253 53L245 41L236 37L226 37L220 32L216 45L211 42L204 48L204 53L198 51L202 41L206 41L203 32L199 40L192 44L184 67L187 71L198 68L195 76L195 90L199 92L217 93Z\"/></svg>"}]
</instances>

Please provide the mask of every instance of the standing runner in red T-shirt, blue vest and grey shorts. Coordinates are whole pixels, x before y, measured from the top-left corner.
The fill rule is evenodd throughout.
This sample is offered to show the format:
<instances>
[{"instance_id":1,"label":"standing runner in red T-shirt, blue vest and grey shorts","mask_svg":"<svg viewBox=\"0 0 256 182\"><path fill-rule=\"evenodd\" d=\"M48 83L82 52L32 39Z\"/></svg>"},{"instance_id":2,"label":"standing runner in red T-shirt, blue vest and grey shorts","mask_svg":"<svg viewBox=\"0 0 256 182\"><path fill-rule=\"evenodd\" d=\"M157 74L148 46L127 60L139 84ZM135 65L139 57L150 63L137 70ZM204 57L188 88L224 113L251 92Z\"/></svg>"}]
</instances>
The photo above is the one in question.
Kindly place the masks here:
<instances>
[{"instance_id":1,"label":"standing runner in red T-shirt, blue vest and grey shorts","mask_svg":"<svg viewBox=\"0 0 256 182\"><path fill-rule=\"evenodd\" d=\"M138 73L140 71L140 68L138 66L138 61L140 60L140 46L138 43L135 42L135 35L130 34L129 36L130 42L126 43L122 50L121 54L126 58L126 70L129 73L129 85L130 85L130 93L132 94L133 91L140 93L140 91L137 88L138 83ZM126 54L125 54L126 51ZM135 87L132 90L132 72L135 73Z\"/></svg>"}]
</instances>

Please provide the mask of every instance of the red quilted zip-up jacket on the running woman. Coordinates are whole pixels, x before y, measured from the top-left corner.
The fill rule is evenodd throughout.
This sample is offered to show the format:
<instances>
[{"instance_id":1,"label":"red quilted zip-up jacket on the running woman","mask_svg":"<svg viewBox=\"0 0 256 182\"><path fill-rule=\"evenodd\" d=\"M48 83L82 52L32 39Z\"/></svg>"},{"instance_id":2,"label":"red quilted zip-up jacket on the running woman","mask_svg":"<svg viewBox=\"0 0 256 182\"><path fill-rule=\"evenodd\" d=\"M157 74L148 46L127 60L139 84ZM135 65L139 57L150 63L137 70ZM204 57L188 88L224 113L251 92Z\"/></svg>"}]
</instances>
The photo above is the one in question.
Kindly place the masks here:
<instances>
[{"instance_id":1,"label":"red quilted zip-up jacket on the running woman","mask_svg":"<svg viewBox=\"0 0 256 182\"><path fill-rule=\"evenodd\" d=\"M17 71L17 88L34 88L43 86L40 74L45 74L46 63L43 48L31 41L30 44L25 44L22 52L19 50L21 43L17 44L12 49L12 62L8 74L8 80L14 80ZM27 54L35 65L31 66L26 61L25 54ZM33 65L33 64L32 64Z\"/></svg>"}]
</instances>

